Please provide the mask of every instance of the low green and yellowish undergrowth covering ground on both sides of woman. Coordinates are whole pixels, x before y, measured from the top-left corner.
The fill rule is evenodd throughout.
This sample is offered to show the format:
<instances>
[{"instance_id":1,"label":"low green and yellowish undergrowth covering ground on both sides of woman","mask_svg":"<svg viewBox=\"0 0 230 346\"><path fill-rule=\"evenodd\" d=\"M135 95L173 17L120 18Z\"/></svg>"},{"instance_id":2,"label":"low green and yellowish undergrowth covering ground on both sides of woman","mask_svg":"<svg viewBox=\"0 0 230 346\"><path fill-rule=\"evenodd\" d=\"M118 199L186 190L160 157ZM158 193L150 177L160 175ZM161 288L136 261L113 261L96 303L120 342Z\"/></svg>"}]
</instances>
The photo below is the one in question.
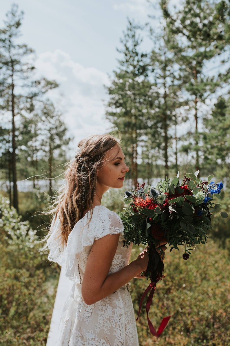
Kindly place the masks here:
<instances>
[{"instance_id":1,"label":"low green and yellowish undergrowth covering ground on both sides of woman","mask_svg":"<svg viewBox=\"0 0 230 346\"><path fill-rule=\"evenodd\" d=\"M112 210L122 210L121 199L122 191L111 189L104 195L103 204ZM24 194L26 200L29 194ZM225 194L221 203L229 210L229 195ZM163 317L171 314L172 317L161 337L156 339L149 332L143 307L137 321L140 346L229 344L230 243L227 239L226 248L222 249L217 236L229 237L230 225L229 219L219 217L212 222L210 237L214 240L209 238L205 247L199 245L188 261L183 261L179 252L169 253L167 249L166 278L157 284L149 316L156 328ZM0 346L46 345L59 268L54 263L50 266L46 255L37 251L39 238L15 209L9 207L6 199L1 202L0 237ZM30 239L37 245L31 246ZM132 259L139 252L135 246ZM148 283L145 279L132 281L136 316Z\"/></svg>"}]
</instances>

